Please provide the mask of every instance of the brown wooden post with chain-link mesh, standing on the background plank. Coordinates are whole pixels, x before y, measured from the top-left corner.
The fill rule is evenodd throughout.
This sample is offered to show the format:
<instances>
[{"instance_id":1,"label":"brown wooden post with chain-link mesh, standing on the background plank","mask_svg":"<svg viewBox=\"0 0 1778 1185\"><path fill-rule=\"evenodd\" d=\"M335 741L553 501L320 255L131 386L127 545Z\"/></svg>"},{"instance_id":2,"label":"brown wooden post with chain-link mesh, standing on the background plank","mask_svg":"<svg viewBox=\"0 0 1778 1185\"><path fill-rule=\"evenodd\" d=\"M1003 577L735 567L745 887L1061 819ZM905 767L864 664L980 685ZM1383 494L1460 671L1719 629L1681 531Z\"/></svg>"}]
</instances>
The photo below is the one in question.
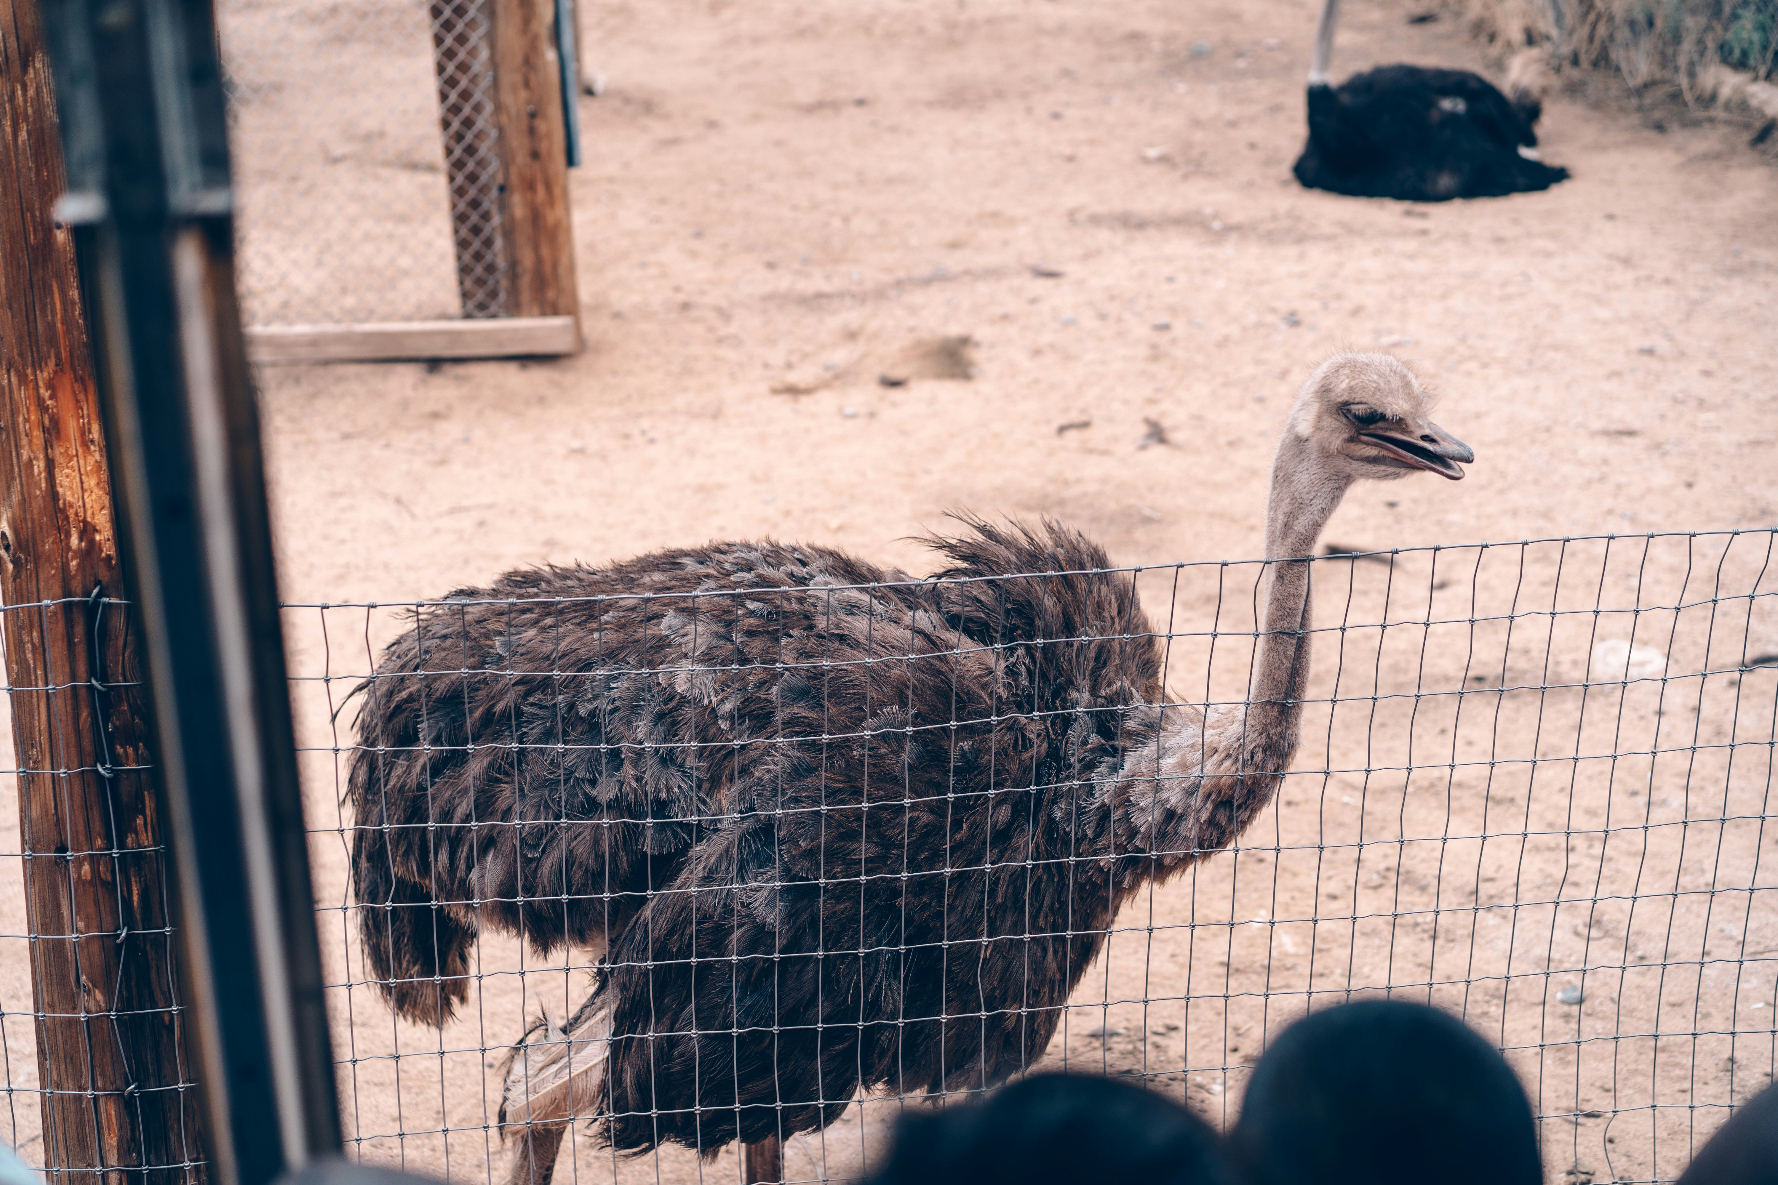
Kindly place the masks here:
<instances>
[{"instance_id":1,"label":"brown wooden post with chain-link mesh, standing on the background plank","mask_svg":"<svg viewBox=\"0 0 1778 1185\"><path fill-rule=\"evenodd\" d=\"M430 12L464 316L573 316L578 334L564 108L578 87L564 87L557 5L432 0Z\"/></svg>"}]
</instances>

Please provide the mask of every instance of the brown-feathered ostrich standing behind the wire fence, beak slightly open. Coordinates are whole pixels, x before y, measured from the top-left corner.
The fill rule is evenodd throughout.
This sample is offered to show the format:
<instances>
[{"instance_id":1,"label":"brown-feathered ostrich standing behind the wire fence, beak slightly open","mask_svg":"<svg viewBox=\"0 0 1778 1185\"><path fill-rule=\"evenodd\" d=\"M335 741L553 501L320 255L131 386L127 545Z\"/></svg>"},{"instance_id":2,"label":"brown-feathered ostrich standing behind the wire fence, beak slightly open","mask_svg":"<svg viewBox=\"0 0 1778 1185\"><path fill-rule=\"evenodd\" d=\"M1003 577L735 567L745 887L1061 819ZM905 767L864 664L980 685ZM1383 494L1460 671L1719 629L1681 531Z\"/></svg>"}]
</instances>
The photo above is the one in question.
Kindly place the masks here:
<instances>
[{"instance_id":1,"label":"brown-feathered ostrich standing behind the wire fence, beak slightly open","mask_svg":"<svg viewBox=\"0 0 1778 1185\"><path fill-rule=\"evenodd\" d=\"M548 1183L574 1116L619 1149L740 1139L768 1165L861 1087L1008 1078L1118 906L1271 799L1309 670L1301 558L1353 481L1463 476L1428 410L1389 355L1303 386L1245 704L1166 704L1133 581L1054 522L964 517L930 581L733 542L427 606L359 688L372 977L443 1025L484 926L599 959L565 1030L514 1048L516 1183Z\"/></svg>"}]
</instances>

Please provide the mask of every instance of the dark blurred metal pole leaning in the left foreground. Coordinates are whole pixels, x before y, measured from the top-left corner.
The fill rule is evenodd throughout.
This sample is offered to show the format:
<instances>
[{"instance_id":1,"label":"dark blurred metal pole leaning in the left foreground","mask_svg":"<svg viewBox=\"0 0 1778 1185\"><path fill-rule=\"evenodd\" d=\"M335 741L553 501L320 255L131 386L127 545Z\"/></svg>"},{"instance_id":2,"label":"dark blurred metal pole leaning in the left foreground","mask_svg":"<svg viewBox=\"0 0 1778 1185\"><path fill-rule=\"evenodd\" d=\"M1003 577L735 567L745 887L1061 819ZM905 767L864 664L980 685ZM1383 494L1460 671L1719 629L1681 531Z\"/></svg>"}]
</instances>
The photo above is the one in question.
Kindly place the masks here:
<instances>
[{"instance_id":1,"label":"dark blurred metal pole leaning in the left foreground","mask_svg":"<svg viewBox=\"0 0 1778 1185\"><path fill-rule=\"evenodd\" d=\"M44 0L213 1180L340 1151L208 0Z\"/></svg>"}]
</instances>

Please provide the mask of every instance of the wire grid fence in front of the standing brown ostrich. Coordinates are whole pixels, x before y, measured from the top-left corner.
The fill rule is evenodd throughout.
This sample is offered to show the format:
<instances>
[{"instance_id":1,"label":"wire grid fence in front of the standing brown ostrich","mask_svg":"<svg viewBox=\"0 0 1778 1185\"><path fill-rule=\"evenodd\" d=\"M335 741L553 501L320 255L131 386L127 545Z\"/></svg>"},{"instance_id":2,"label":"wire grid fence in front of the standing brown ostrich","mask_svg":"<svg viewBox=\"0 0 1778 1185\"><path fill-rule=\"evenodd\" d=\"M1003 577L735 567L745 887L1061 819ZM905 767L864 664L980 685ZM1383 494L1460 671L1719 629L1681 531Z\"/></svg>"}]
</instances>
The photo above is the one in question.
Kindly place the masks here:
<instances>
[{"instance_id":1,"label":"wire grid fence in front of the standing brown ostrich","mask_svg":"<svg viewBox=\"0 0 1778 1185\"><path fill-rule=\"evenodd\" d=\"M713 576L757 553L686 553L439 602L286 606L304 776L325 792L313 808L329 803L311 847L348 1144L503 1176L541 1098L535 1061L578 1075L551 1116L594 1121L567 1132L560 1180L740 1180L724 1144L761 1130L786 1135L786 1180L845 1180L910 1100L1008 1068L1134 1075L1227 1123L1282 1025L1387 991L1506 1052L1550 1180L1673 1180L1778 1048L1773 544L1317 558L1301 744L1220 851L1177 828L1168 847L1140 819L1093 833L1092 803L1159 803L1168 783L1106 778L1086 753L1141 748L1129 739L1152 741L1166 712L1241 712L1262 563L912 581L811 551L772 585ZM676 570L702 576L679 588ZM564 595L576 581L587 595ZM1021 616L1088 586L1134 588L1143 608ZM1069 702L1058 688L1088 659L1113 693ZM907 704L859 691L889 686ZM676 723L692 705L704 732ZM1017 766L1042 737L1060 764ZM761 791L797 780L818 803ZM626 807L624 785L653 805ZM674 785L706 805L674 807ZM946 823L907 823L933 812ZM894 844L859 839L878 824ZM1054 842L1021 849L1021 826ZM402 849L404 831L423 844ZM814 867L773 855L798 835ZM366 851L396 869L361 883L368 906L352 892ZM411 895L453 862L480 871ZM932 894L935 915L909 904ZM999 922L996 894L1012 899ZM521 917L569 942L521 945ZM398 929L407 963L377 938ZM443 1027L398 1018L377 986L423 966L427 942L457 961L402 990L409 1016L455 993ZM921 977L944 984L935 1000Z\"/></svg>"}]
</instances>

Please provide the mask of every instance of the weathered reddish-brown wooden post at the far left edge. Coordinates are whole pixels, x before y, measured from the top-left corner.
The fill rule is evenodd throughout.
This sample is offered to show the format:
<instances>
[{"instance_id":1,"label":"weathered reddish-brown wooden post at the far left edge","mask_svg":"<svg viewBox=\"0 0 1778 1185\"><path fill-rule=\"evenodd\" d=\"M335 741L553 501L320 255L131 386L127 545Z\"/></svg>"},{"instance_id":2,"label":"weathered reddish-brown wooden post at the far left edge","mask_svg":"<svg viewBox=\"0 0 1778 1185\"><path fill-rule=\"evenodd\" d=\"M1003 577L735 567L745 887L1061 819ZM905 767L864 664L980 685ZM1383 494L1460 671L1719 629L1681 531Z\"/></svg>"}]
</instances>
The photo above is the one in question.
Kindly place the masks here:
<instances>
[{"instance_id":1,"label":"weathered reddish-brown wooden post at the far left edge","mask_svg":"<svg viewBox=\"0 0 1778 1185\"><path fill-rule=\"evenodd\" d=\"M204 1180L140 664L37 0L0 0L0 597L44 1165Z\"/></svg>"}]
</instances>

